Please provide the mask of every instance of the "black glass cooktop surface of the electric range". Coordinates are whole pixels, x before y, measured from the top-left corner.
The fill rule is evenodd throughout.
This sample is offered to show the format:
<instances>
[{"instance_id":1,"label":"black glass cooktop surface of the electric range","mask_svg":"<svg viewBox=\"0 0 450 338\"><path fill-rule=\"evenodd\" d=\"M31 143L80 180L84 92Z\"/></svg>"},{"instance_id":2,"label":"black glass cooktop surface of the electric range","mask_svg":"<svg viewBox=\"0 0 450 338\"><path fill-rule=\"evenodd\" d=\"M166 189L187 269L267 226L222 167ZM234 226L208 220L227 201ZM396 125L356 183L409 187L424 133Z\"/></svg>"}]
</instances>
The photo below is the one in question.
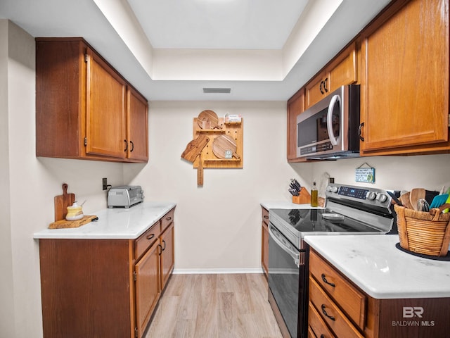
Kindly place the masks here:
<instances>
[{"instance_id":1,"label":"black glass cooktop surface of the electric range","mask_svg":"<svg viewBox=\"0 0 450 338\"><path fill-rule=\"evenodd\" d=\"M271 209L297 232L380 232L375 227L326 209Z\"/></svg>"}]
</instances>

